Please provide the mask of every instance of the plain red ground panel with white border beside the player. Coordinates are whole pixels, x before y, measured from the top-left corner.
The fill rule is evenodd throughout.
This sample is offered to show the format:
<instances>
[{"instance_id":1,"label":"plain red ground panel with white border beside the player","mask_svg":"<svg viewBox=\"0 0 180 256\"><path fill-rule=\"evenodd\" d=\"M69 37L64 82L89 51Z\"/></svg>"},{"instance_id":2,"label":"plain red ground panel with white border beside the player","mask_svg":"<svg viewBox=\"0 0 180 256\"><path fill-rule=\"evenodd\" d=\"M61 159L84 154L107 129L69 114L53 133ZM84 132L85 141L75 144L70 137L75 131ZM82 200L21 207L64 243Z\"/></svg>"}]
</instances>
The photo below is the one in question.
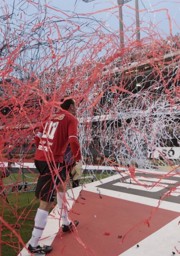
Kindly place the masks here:
<instances>
[{"instance_id":1,"label":"plain red ground panel with white border beside the player","mask_svg":"<svg viewBox=\"0 0 180 256\"><path fill-rule=\"evenodd\" d=\"M144 221L151 216L154 207L105 195L100 198L99 194L88 191L81 192L81 195L86 200L78 197L80 203L75 203L71 211L72 219L80 221L78 232L62 233L59 230L49 256L117 256L180 215L158 208L153 211L148 227ZM104 235L105 232L110 235ZM126 234L121 243L118 236Z\"/></svg>"}]
</instances>

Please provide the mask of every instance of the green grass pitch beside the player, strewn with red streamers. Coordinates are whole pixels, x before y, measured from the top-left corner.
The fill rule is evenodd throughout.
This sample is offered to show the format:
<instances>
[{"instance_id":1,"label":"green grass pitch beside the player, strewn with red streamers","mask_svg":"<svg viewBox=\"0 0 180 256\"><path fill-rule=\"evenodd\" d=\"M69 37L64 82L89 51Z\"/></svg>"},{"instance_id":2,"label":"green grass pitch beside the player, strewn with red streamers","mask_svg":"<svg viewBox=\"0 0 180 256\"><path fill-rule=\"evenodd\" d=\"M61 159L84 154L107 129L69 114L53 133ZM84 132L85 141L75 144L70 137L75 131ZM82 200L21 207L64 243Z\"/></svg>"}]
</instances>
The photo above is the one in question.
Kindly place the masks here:
<instances>
[{"instance_id":1,"label":"green grass pitch beside the player, strewn with red streamers","mask_svg":"<svg viewBox=\"0 0 180 256\"><path fill-rule=\"evenodd\" d=\"M26 175L26 174L25 174ZM27 174L26 181L34 182L37 174ZM109 177L108 174L97 174L96 178ZM23 181L23 176L13 174L11 177L7 177L3 180L4 184L17 183ZM35 198L33 192L21 192L7 194L9 203L5 201L3 197L0 197L0 216L18 233L26 244L31 238L31 233L34 225L34 217L36 210L39 207L39 200ZM54 205L56 201L54 202ZM53 208L54 206L52 206ZM20 252L19 247L23 246L17 236L6 227L6 225L0 222L1 230L1 256L17 256Z\"/></svg>"}]
</instances>

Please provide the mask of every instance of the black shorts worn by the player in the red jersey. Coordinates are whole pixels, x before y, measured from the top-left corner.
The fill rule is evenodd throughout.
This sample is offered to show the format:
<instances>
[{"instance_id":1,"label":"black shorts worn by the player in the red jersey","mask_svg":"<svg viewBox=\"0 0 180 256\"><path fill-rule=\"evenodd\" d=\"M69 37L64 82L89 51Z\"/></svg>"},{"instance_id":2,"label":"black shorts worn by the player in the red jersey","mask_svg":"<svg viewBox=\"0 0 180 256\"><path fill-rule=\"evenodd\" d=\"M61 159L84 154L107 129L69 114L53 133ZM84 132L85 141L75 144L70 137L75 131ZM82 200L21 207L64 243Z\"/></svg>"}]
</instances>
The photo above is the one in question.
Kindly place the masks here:
<instances>
[{"instance_id":1,"label":"black shorts worn by the player in the red jersey","mask_svg":"<svg viewBox=\"0 0 180 256\"><path fill-rule=\"evenodd\" d=\"M37 186L35 195L39 200L46 202L53 202L54 198L57 194L55 189L55 184L58 186L61 184L61 180L58 178L58 175L55 174L53 163L49 163L51 165L51 169L54 173L51 174L49 170L48 163L46 161L34 160L34 164L39 171L39 178L37 180ZM63 168L63 163L56 163L56 167L58 169L58 173L62 181L66 180L66 168ZM53 178L54 177L54 180Z\"/></svg>"}]
</instances>

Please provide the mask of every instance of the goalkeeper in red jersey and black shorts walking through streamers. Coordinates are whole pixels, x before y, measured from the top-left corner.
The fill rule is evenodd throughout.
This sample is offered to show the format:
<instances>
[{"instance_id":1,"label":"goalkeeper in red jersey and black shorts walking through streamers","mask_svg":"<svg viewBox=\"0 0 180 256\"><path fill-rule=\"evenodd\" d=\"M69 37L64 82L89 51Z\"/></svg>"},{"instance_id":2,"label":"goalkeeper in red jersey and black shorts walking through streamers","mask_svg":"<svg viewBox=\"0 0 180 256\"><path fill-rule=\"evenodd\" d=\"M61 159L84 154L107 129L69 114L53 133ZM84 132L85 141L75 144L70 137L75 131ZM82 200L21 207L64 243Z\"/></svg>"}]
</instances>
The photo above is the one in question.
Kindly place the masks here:
<instances>
[{"instance_id":1,"label":"goalkeeper in red jersey and black shorts walking through streamers","mask_svg":"<svg viewBox=\"0 0 180 256\"><path fill-rule=\"evenodd\" d=\"M78 120L75 117L77 105L74 99L63 98L60 105L62 110L48 117L42 122L36 140L36 154L34 163L40 175L36 186L36 197L40 200L34 219L34 229L28 250L31 253L49 253L51 246L38 245L45 228L49 209L55 198L57 191L57 203L60 208L62 218L62 230L67 232L72 229L73 225L77 226L78 221L74 224L68 218L67 207L65 207L65 189L66 189L66 168L63 168L63 155L65 154L68 143L71 145L74 157L73 174L75 179L82 175L81 150L78 141L77 129Z\"/></svg>"}]
</instances>

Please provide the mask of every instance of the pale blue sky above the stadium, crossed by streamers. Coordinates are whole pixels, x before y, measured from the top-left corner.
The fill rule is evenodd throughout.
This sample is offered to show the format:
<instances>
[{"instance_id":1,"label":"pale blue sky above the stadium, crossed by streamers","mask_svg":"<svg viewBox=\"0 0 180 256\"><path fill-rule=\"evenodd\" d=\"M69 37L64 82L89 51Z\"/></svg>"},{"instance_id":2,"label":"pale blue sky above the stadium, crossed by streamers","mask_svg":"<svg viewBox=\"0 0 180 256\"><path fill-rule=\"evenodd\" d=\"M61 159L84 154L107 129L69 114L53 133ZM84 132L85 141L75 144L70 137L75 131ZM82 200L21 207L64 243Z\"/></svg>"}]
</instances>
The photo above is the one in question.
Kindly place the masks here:
<instances>
[{"instance_id":1,"label":"pale blue sky above the stadium, crossed by streamers","mask_svg":"<svg viewBox=\"0 0 180 256\"><path fill-rule=\"evenodd\" d=\"M153 35L153 37L160 34L160 37L166 38L170 35L170 31L172 31L173 36L180 31L180 1L139 0L138 2L141 38L145 37L145 41L148 41L146 38L151 40L150 34ZM124 41L130 42L132 45L136 40L134 8L135 0L123 6ZM20 35L21 41L24 40L27 46L29 46L29 44L36 45L38 41L46 44L49 41L48 35L50 35L50 40L55 41L58 38L58 44L53 46L55 49L58 49L58 55L62 55L63 53L66 58L68 49L72 49L67 58L66 65L69 64L69 59L71 59L72 56L74 56L77 61L83 59L85 55L86 58L87 55L92 58L92 51L96 46L99 34L97 34L96 37L95 33L93 40L91 36L96 28L99 29L99 27L101 27L102 23L104 23L103 33L108 34L110 32L116 32L116 35L119 33L119 12L116 0L95 0L90 3L85 3L82 0L4 0L0 2L0 15L11 14L12 9L14 13L13 18L9 18L8 20L11 29L9 34L5 32L5 35L7 37L9 35L9 38L11 38L13 31L15 31ZM68 18L68 15L72 18ZM43 23L43 19L45 19L45 23ZM98 23L97 20L101 22ZM26 21L26 23L24 21ZM72 21L75 22L72 23ZM3 31L7 30L6 22L7 21L3 21L3 19L0 20L0 27L4 29ZM36 26L37 23L41 22L43 23L43 27ZM80 25L77 31L76 25ZM25 27L25 29L22 33L21 30L23 27ZM35 33L32 32L33 27L36 27ZM98 33L99 31L100 29ZM29 43L28 40L31 40L31 35L32 42ZM61 35L63 40L61 40ZM2 38L3 36L0 35L0 40ZM102 36L101 34L99 38L103 41L104 35ZM110 43L107 43L107 47L111 48L110 44L112 40L109 40L109 38L110 36L106 35L104 41L109 41ZM89 40L91 40L92 46L87 49L88 46L85 46L85 44L89 43ZM115 40L115 44L119 44L117 36ZM11 41L10 44L12 44ZM80 48L82 48L82 46L84 48L83 50L81 49L80 54ZM41 49L44 52L43 56L48 56L49 54L49 56L53 55L51 49L47 49L47 47ZM34 50L34 52L37 51ZM28 53L27 56L32 56L34 52ZM98 52L98 57L101 57L105 54L105 47L103 50L98 49L96 52ZM96 52L94 53L95 55ZM76 54L76 57L74 54Z\"/></svg>"}]
</instances>

